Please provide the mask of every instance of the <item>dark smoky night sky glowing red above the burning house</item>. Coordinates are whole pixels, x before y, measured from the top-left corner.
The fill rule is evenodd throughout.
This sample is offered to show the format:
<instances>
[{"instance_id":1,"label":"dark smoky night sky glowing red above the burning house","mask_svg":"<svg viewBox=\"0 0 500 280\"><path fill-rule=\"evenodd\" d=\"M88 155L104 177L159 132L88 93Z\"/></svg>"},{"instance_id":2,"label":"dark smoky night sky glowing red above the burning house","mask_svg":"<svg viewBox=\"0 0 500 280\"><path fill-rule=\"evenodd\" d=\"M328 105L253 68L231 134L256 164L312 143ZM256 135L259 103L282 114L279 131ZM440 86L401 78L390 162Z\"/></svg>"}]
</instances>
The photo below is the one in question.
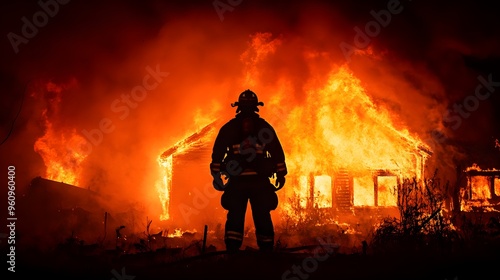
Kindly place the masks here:
<instances>
[{"instance_id":1,"label":"dark smoky night sky glowing red above the burning house","mask_svg":"<svg viewBox=\"0 0 500 280\"><path fill-rule=\"evenodd\" d=\"M347 56L341 46L346 43L373 51L384 67L397 72L432 101L428 104L433 107L426 107L405 103L408 96L404 92L397 96L374 94L382 103L395 104L402 118L423 138L438 139L432 146L450 145L460 150L466 156L457 160L465 164L484 161L491 165L500 152L495 148L495 139L500 138L500 17L492 2L40 3L48 4L3 1L0 9L1 170L15 165L20 185L43 174L43 161L33 145L44 133L42 112L56 110L50 105L54 96L36 94L47 82L67 89L52 119L55 126L91 130L101 119L113 115L110 118L119 132L105 135L96 150L114 163L133 158L134 163L122 169L141 172L148 168L137 163L148 160L141 154L144 146L175 142L192 117L203 114L206 104L216 100L228 105L246 89L233 77L241 71L240 55L248 36L255 32L270 32L287 42L273 61L277 66L269 80L280 72L295 77L292 101L300 101L301 82L308 75L300 53L314 49L327 53L332 62L345 63ZM385 26L376 25L379 29L372 30L369 42L356 45L356 30L366 30L374 23L374 15L384 21L388 10L391 13L383 22ZM353 58L349 62L352 69L363 73L363 60L355 55L349 58ZM375 69L373 64L370 69ZM169 74L154 90L155 98L145 99L136 110L121 111L121 115L110 112L120 92L141 83L145 69L157 65ZM377 77L364 80L368 89L371 80ZM479 100L476 89L488 80L489 86L479 91ZM385 83L393 86L390 79ZM427 121L430 115L434 117ZM438 136L430 136L433 132ZM107 164L110 161L106 160ZM97 169L99 161L94 159L94 163Z\"/></svg>"}]
</instances>

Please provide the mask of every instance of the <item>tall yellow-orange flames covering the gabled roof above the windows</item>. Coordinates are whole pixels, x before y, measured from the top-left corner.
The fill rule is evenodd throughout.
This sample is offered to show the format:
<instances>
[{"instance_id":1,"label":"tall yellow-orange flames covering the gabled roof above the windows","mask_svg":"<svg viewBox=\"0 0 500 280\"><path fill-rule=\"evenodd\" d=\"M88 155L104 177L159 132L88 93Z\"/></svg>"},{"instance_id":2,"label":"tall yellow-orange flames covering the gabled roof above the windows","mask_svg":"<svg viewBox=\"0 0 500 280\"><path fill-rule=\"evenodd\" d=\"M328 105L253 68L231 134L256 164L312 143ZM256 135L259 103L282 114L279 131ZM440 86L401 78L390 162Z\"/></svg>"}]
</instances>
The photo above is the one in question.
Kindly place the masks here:
<instances>
[{"instance_id":1,"label":"tall yellow-orange flames covering the gabled roof above the windows","mask_svg":"<svg viewBox=\"0 0 500 280\"><path fill-rule=\"evenodd\" d=\"M332 70L325 85L306 94L306 102L293 108L286 122L293 135L289 163L296 172L342 167L409 175L416 170L412 152L424 143L407 129L396 128L395 116L373 103L347 66Z\"/></svg>"}]
</instances>

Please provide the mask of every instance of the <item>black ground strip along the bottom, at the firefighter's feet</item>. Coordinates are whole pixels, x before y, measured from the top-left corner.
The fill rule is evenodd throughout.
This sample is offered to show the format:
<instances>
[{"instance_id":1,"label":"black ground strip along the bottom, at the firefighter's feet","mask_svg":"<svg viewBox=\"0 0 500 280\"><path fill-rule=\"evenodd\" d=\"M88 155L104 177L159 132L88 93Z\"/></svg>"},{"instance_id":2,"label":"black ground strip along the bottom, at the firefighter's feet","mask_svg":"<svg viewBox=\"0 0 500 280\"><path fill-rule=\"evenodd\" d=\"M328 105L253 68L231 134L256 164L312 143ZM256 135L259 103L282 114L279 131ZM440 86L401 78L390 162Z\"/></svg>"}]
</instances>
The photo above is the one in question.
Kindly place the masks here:
<instances>
[{"instance_id":1,"label":"black ground strip along the bottom, at the firefighter's feet","mask_svg":"<svg viewBox=\"0 0 500 280\"><path fill-rule=\"evenodd\" d=\"M330 251L331 255L326 255L318 251L315 255L311 249L318 245L310 250L267 254L214 251L177 259L169 258L164 251L122 256L59 251L29 258L18 255L16 273L10 273L7 279L496 279L489 275L496 273L500 247L483 245L456 253L429 248L421 253L362 255Z\"/></svg>"}]
</instances>

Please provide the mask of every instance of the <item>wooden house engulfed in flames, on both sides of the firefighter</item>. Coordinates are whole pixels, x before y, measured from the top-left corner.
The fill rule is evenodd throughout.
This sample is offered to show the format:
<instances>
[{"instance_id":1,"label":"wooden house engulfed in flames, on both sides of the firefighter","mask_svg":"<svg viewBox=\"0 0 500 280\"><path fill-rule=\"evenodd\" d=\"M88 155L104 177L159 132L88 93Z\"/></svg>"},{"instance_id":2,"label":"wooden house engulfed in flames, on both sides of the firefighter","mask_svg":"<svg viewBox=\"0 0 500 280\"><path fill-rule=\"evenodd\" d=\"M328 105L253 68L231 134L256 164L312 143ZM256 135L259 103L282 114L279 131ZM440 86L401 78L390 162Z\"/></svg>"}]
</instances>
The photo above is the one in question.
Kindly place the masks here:
<instances>
[{"instance_id":1,"label":"wooden house engulfed in flames, on both sides of the firefighter","mask_svg":"<svg viewBox=\"0 0 500 280\"><path fill-rule=\"evenodd\" d=\"M264 118L283 135L289 174L278 195L284 211L296 215L295 204L301 211L316 208L332 215L370 209L397 215L398 188L405 178L420 181L426 176L430 148L392 125L387 112L376 108L347 68L334 70L323 88L306 94L320 106L277 106L271 100L262 110L262 114L271 111ZM199 211L187 204L195 199L193 190L211 188L208 163L221 125L222 120L211 122L160 155L164 177L159 190L166 219L182 224L186 213ZM193 176L205 181L193 181ZM200 215L211 218L223 213L218 199L209 199L208 204Z\"/></svg>"}]
</instances>

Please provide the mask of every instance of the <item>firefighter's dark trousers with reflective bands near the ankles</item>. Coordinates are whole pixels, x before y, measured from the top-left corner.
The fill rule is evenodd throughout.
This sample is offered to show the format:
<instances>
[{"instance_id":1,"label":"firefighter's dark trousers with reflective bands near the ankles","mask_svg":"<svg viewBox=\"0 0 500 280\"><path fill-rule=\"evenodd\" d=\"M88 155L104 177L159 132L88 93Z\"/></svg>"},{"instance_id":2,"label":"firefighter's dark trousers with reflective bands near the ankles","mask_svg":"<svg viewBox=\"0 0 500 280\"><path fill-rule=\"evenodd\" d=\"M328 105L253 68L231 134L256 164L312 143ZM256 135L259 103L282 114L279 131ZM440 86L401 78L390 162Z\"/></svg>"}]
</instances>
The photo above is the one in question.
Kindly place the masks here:
<instances>
[{"instance_id":1,"label":"firefighter's dark trousers with reflective bands near the ankles","mask_svg":"<svg viewBox=\"0 0 500 280\"><path fill-rule=\"evenodd\" d=\"M252 209L257 246L263 251L273 249L274 226L271 211L278 206L275 190L267 177L242 175L230 179L221 197L222 207L228 210L224 235L228 251L237 251L243 243L248 202Z\"/></svg>"}]
</instances>

